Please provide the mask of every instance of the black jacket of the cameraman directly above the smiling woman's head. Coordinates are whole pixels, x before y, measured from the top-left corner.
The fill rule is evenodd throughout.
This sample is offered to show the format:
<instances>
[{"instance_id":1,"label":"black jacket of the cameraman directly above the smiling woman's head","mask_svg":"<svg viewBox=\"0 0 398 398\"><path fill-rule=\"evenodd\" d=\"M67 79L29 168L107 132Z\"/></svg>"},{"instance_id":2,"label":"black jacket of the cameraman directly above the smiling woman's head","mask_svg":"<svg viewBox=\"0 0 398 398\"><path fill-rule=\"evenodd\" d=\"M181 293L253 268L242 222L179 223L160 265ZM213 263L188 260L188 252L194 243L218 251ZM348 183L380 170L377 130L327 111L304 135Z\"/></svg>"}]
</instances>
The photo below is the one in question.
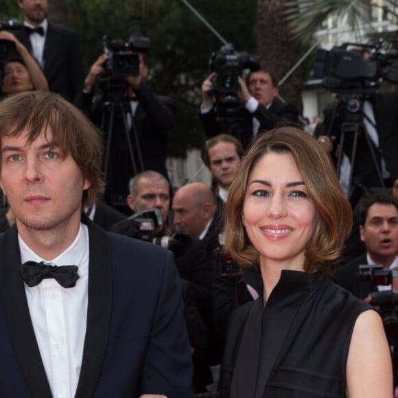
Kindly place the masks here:
<instances>
[{"instance_id":1,"label":"black jacket of the cameraman directly above the smiling woman's head","mask_svg":"<svg viewBox=\"0 0 398 398\"><path fill-rule=\"evenodd\" d=\"M269 109L259 104L255 113L250 113L246 108L242 108L241 119L236 124L231 124L228 119L222 122L218 121L214 108L208 113L200 114L206 139L221 133L232 134L242 142L245 149L253 139L253 117L260 122L257 133L283 124L295 125L299 121L297 109L292 104L283 104L277 100L272 102Z\"/></svg>"}]
</instances>

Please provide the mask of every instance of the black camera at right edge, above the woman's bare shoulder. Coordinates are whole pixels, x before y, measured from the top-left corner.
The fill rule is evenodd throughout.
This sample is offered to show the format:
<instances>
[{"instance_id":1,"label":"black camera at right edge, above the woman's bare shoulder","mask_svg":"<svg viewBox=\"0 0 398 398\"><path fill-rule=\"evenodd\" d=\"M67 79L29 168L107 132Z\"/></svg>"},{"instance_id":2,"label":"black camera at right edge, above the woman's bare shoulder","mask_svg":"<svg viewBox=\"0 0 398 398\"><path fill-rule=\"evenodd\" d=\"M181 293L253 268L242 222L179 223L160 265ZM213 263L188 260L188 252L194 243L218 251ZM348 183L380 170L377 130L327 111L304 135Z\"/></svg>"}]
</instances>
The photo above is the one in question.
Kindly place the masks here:
<instances>
[{"instance_id":1,"label":"black camera at right edge, above the woman's bare shoulder","mask_svg":"<svg viewBox=\"0 0 398 398\"><path fill-rule=\"evenodd\" d=\"M371 304L379 307L388 337L398 338L398 269L384 268L380 264L358 266L360 292L371 290ZM392 289L377 291L378 285L391 285ZM364 294L361 294L363 296Z\"/></svg>"}]
</instances>

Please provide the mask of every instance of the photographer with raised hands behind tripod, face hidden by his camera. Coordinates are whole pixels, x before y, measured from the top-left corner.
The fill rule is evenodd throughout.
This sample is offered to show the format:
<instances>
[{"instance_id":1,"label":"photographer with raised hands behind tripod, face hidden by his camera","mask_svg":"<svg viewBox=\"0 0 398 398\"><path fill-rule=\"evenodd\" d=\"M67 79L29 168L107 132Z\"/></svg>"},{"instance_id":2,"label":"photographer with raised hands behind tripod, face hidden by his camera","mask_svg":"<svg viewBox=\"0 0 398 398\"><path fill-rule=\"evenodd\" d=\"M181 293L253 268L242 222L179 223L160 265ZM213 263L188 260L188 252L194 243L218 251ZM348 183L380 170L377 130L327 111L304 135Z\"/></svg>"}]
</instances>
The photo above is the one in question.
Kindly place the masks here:
<instances>
[{"instance_id":1,"label":"photographer with raised hands behind tripod, face hidden by his camera","mask_svg":"<svg viewBox=\"0 0 398 398\"><path fill-rule=\"evenodd\" d=\"M137 54L131 48L126 53ZM155 95L148 86L145 80L148 67L142 53L138 54L138 74L123 78L114 78L107 70L108 58L102 54L91 66L77 105L102 128L106 145L110 145L104 199L108 204L117 205L128 195L131 176L150 169L168 179L165 150L167 134L175 122L175 104L170 97ZM95 95L97 82L101 82L102 93ZM116 105L113 119L109 108L112 104ZM107 134L109 130L111 139ZM129 148L126 130L132 148Z\"/></svg>"}]
</instances>

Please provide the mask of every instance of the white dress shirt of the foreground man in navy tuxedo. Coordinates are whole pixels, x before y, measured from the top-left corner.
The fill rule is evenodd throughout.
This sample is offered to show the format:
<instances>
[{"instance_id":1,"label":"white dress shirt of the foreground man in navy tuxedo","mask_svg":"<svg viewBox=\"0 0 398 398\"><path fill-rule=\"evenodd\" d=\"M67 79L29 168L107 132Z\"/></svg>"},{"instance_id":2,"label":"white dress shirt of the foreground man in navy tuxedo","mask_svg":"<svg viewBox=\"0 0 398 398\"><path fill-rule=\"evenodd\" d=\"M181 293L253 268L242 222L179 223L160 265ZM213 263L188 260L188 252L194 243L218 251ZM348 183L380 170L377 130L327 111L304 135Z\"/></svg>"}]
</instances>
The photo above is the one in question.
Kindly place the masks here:
<instances>
[{"instance_id":1,"label":"white dress shirt of the foreground man in navy tuxedo","mask_svg":"<svg viewBox=\"0 0 398 398\"><path fill-rule=\"evenodd\" d=\"M43 261L19 237L21 261ZM62 288L55 279L43 279L25 293L38 349L54 398L73 398L82 367L86 335L89 286L89 231L80 224L75 241L51 261L57 266L78 266L73 288ZM34 364L32 364L34 366Z\"/></svg>"}]
</instances>

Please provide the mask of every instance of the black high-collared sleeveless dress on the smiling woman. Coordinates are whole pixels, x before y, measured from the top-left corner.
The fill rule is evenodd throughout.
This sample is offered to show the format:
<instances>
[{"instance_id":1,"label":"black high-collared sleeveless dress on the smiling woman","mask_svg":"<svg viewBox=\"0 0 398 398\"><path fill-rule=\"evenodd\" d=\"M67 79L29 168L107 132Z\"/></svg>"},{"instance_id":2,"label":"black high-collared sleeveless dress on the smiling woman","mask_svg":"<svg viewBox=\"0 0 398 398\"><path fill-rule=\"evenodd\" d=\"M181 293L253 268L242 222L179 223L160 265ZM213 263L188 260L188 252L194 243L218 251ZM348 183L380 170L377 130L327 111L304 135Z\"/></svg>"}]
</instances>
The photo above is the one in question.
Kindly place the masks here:
<instances>
[{"instance_id":1,"label":"black high-collared sleeveless dress on the smiling woman","mask_svg":"<svg viewBox=\"0 0 398 398\"><path fill-rule=\"evenodd\" d=\"M372 308L320 272L283 270L265 307L260 294L232 316L220 397L347 397L351 334Z\"/></svg>"}]
</instances>

